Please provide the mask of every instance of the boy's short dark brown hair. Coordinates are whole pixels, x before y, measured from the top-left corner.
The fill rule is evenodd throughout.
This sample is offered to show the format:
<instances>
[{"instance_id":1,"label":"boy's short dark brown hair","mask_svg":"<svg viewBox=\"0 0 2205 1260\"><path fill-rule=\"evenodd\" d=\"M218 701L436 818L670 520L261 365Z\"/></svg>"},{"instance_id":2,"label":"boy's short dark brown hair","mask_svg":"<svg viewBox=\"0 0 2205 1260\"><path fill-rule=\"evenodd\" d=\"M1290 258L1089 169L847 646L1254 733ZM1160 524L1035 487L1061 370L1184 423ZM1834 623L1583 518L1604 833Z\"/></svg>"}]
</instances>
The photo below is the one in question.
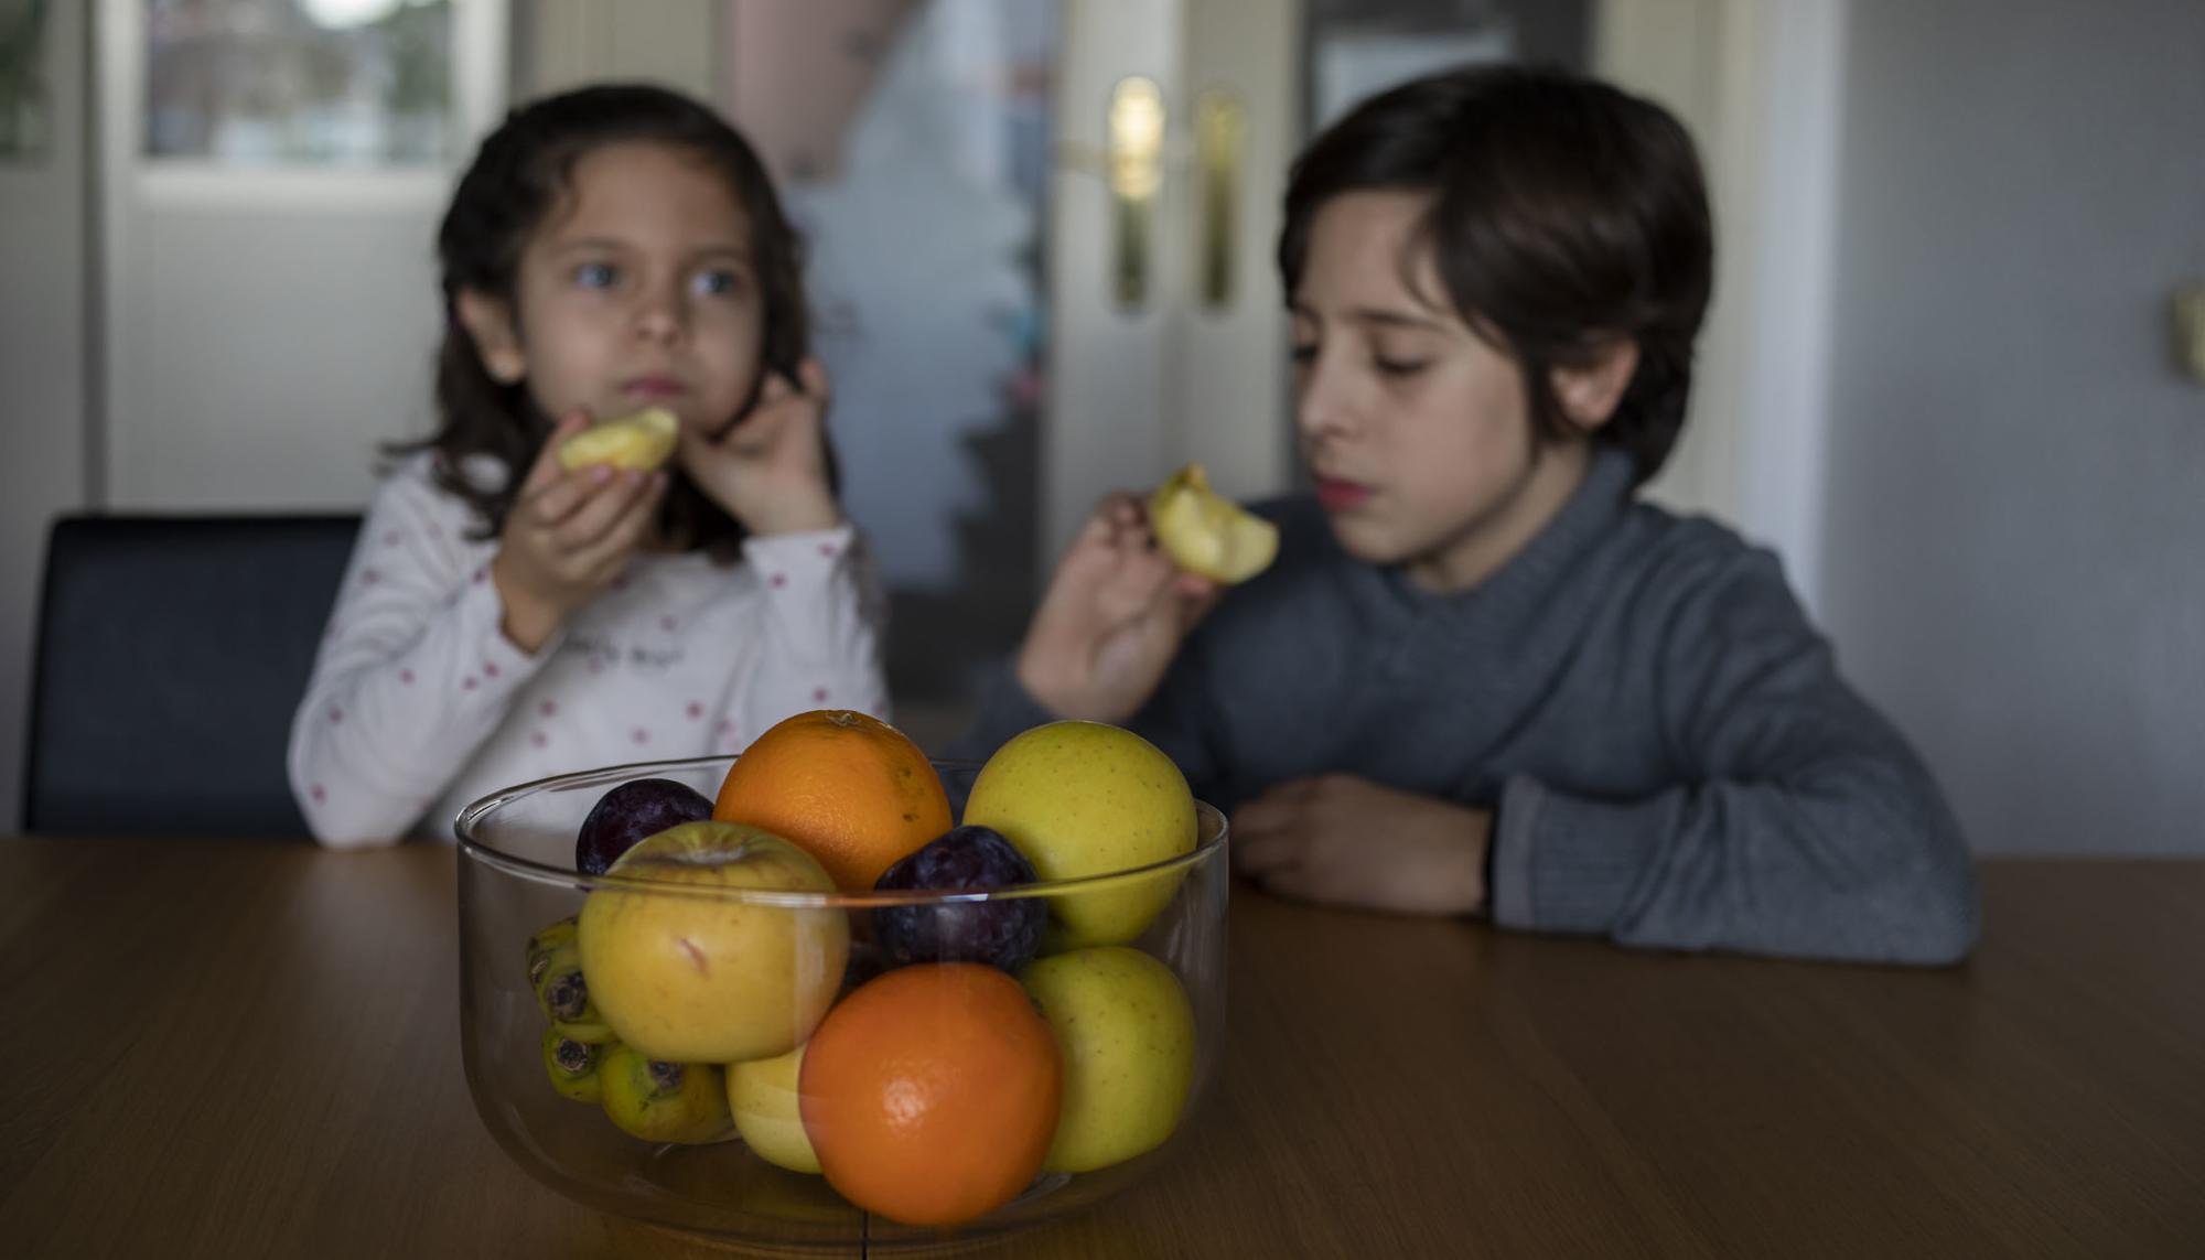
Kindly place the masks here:
<instances>
[{"instance_id":1,"label":"boy's short dark brown hair","mask_svg":"<svg viewBox=\"0 0 2205 1260\"><path fill-rule=\"evenodd\" d=\"M1652 478L1685 423L1713 227L1691 137L1660 106L1566 70L1477 66L1383 93L1294 161L1279 233L1292 293L1316 211L1347 192L1431 192L1420 233L1462 319L1524 370L1537 434L1570 434L1552 368L1616 337L1638 370L1596 430ZM1407 271L1411 260L1402 260Z\"/></svg>"}]
</instances>

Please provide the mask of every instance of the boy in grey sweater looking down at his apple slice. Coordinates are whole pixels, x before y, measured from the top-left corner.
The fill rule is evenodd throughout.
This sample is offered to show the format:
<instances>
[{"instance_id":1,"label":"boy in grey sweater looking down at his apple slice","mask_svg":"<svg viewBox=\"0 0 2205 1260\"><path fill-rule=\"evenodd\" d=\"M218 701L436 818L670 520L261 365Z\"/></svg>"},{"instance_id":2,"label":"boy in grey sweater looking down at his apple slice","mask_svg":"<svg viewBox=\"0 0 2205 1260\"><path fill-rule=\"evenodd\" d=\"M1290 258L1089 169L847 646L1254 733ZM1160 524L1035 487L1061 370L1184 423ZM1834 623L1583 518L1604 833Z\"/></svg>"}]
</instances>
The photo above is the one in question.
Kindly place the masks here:
<instances>
[{"instance_id":1,"label":"boy in grey sweater looking down at his apple slice","mask_svg":"<svg viewBox=\"0 0 2205 1260\"><path fill-rule=\"evenodd\" d=\"M1682 128L1550 70L1396 88L1294 163L1279 267L1314 496L1261 509L1277 564L1222 593L1105 500L959 751L1129 725L1288 897L1965 956L1951 813L1775 560L1632 498L1713 267Z\"/></svg>"}]
</instances>

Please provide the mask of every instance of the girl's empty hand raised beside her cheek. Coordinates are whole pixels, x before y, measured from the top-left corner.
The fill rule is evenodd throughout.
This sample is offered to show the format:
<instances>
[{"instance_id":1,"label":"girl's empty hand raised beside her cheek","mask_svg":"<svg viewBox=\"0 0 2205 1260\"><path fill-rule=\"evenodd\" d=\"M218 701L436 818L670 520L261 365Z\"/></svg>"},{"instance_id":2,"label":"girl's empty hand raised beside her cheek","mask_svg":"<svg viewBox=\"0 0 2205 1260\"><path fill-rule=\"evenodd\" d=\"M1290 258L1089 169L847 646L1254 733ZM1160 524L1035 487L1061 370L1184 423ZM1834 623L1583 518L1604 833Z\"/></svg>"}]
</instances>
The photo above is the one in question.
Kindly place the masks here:
<instances>
[{"instance_id":1,"label":"girl's empty hand raised beside her cheek","mask_svg":"<svg viewBox=\"0 0 2205 1260\"><path fill-rule=\"evenodd\" d=\"M767 370L759 405L721 434L681 425L679 460L712 502L754 535L833 529L842 522L827 489L827 368L805 359L792 383Z\"/></svg>"}]
</instances>

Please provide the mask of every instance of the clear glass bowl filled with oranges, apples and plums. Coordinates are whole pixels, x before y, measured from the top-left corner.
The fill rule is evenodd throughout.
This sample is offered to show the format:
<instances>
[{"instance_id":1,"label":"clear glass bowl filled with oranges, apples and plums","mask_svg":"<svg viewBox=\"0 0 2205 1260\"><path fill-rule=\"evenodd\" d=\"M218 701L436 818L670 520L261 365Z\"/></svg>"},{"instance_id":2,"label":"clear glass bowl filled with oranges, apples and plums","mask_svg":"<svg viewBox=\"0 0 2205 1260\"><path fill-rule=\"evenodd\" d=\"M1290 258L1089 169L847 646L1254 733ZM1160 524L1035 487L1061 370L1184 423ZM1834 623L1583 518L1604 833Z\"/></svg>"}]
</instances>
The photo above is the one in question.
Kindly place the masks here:
<instances>
[{"instance_id":1,"label":"clear glass bowl filled with oranges, apples and plums","mask_svg":"<svg viewBox=\"0 0 2205 1260\"><path fill-rule=\"evenodd\" d=\"M873 791L900 745L836 729L891 756L856 758L860 822L809 846L686 819L582 868L611 793L712 795L743 782L730 758L562 775L461 815L463 1057L490 1132L562 1194L754 1245L937 1245L1144 1176L1217 1064L1224 819L1136 736L1041 727L997 753L1019 773L990 791L994 760L922 760L944 826L913 837ZM774 789L825 789L820 762L745 797L803 822ZM1144 791L1122 791L1136 773ZM626 795L646 793L666 789ZM836 850L882 866L845 886Z\"/></svg>"}]
</instances>

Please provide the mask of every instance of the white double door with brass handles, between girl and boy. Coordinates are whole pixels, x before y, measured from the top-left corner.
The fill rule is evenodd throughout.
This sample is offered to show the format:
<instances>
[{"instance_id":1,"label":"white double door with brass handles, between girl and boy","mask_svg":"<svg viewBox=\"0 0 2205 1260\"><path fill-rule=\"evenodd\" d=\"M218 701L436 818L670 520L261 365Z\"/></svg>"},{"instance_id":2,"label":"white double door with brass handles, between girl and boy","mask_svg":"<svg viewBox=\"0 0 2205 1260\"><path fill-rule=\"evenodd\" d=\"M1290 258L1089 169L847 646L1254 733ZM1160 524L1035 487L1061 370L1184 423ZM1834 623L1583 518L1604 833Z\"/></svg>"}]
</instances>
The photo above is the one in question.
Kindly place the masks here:
<instances>
[{"instance_id":1,"label":"white double door with brass handles, between girl and boy","mask_svg":"<svg viewBox=\"0 0 2205 1260\"><path fill-rule=\"evenodd\" d=\"M1067 0L1056 101L1036 564L1111 489L1202 460L1286 487L1286 308L1272 269L1301 143L1299 2Z\"/></svg>"}]
</instances>

